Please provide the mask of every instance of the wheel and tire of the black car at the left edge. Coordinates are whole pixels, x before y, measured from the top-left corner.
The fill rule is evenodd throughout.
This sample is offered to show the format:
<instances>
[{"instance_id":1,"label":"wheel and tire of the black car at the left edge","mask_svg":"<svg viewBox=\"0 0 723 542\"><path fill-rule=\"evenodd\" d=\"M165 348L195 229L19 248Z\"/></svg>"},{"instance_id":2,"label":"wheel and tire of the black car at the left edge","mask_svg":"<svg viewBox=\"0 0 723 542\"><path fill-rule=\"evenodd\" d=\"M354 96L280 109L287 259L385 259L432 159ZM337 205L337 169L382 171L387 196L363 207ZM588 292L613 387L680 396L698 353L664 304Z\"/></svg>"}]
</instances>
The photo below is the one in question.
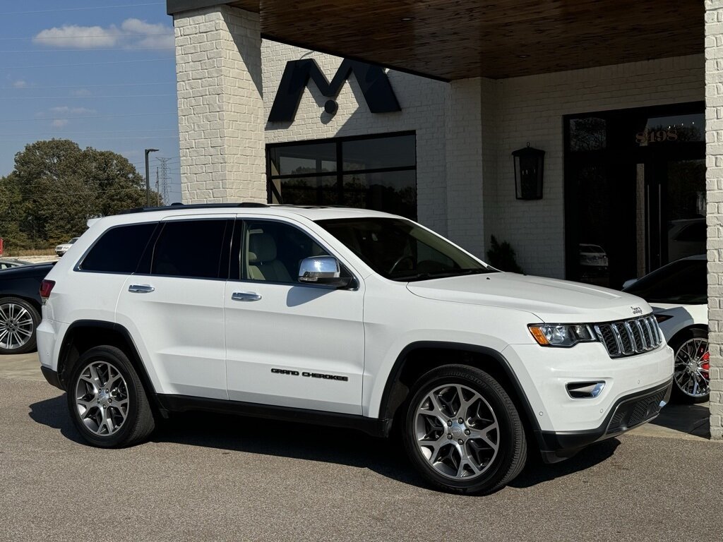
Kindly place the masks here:
<instances>
[{"instance_id":1,"label":"wheel and tire of the black car at the left edge","mask_svg":"<svg viewBox=\"0 0 723 542\"><path fill-rule=\"evenodd\" d=\"M24 354L37 345L40 313L25 299L0 298L0 354Z\"/></svg>"}]
</instances>

